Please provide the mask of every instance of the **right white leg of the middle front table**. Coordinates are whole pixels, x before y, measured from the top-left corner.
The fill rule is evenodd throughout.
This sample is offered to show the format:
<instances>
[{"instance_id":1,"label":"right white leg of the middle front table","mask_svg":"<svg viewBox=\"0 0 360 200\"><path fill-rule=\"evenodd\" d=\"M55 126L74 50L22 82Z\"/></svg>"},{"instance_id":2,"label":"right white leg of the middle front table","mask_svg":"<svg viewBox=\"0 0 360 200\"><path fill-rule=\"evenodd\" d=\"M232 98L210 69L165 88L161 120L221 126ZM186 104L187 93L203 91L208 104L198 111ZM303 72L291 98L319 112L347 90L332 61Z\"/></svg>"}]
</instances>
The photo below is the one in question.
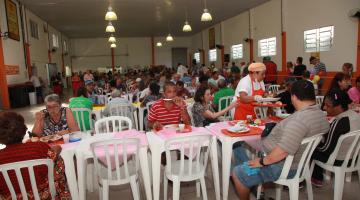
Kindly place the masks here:
<instances>
[{"instance_id":1,"label":"right white leg of the middle front table","mask_svg":"<svg viewBox=\"0 0 360 200\"><path fill-rule=\"evenodd\" d=\"M218 166L218 155L217 155L217 142L216 137L213 136L213 141L211 143L211 166L213 171L214 178L214 187L215 187L215 196L216 200L220 200L220 181L219 181L219 166Z\"/></svg>"}]
</instances>

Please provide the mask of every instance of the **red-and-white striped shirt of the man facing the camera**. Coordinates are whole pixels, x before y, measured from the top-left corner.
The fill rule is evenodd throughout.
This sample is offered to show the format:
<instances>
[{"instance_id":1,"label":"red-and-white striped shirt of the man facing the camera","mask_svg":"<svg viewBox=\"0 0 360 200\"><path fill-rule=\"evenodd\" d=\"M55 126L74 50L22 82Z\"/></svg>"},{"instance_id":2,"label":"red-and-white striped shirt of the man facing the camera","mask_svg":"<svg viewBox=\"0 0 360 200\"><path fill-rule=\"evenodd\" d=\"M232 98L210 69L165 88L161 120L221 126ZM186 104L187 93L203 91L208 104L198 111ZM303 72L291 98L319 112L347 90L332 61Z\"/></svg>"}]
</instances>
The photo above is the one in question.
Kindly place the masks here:
<instances>
[{"instance_id":1,"label":"red-and-white striped shirt of the man facing the camera","mask_svg":"<svg viewBox=\"0 0 360 200\"><path fill-rule=\"evenodd\" d=\"M173 103L170 109L165 107L163 99L156 101L150 109L148 121L153 123L160 122L162 125L179 124L181 120L181 109Z\"/></svg>"}]
</instances>

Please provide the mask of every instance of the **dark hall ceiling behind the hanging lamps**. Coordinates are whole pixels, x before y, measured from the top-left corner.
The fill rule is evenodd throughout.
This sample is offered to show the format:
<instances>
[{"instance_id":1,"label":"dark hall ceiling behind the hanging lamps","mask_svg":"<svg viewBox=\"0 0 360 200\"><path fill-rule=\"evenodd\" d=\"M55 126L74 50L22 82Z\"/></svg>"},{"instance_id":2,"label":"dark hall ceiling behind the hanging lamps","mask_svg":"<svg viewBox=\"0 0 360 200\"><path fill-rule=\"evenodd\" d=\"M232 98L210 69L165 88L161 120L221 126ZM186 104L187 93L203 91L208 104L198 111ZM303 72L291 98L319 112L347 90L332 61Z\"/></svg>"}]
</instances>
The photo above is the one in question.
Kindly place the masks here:
<instances>
[{"instance_id":1,"label":"dark hall ceiling behind the hanging lamps","mask_svg":"<svg viewBox=\"0 0 360 200\"><path fill-rule=\"evenodd\" d=\"M175 36L197 33L268 0L207 0L213 21L201 22L203 0L19 0L33 13L70 38L106 37L104 16L110 4L118 16L116 36ZM182 32L185 21L193 29Z\"/></svg>"}]
</instances>

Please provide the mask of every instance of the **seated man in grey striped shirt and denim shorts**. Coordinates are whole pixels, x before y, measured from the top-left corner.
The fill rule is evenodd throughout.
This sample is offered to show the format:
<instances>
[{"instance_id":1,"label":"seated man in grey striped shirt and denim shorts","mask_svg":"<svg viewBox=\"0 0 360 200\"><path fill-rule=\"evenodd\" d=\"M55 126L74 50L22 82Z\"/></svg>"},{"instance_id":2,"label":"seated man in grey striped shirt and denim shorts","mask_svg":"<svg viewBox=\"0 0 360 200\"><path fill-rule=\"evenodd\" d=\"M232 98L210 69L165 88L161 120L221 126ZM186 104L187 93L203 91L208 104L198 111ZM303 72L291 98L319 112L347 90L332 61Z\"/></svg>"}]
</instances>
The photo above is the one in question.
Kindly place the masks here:
<instances>
[{"instance_id":1,"label":"seated man in grey striped shirt and denim shorts","mask_svg":"<svg viewBox=\"0 0 360 200\"><path fill-rule=\"evenodd\" d=\"M240 199L248 200L252 187L276 181L288 155L294 155L292 166L297 166L298 155L302 152L300 145L304 138L329 130L325 114L315 103L312 83L306 80L295 82L291 88L291 101L296 112L279 122L268 136L261 139L262 149L267 156L249 161L243 147L235 149L238 162L247 162L251 168L260 170L259 173L249 176L241 165L234 168L232 179Z\"/></svg>"}]
</instances>

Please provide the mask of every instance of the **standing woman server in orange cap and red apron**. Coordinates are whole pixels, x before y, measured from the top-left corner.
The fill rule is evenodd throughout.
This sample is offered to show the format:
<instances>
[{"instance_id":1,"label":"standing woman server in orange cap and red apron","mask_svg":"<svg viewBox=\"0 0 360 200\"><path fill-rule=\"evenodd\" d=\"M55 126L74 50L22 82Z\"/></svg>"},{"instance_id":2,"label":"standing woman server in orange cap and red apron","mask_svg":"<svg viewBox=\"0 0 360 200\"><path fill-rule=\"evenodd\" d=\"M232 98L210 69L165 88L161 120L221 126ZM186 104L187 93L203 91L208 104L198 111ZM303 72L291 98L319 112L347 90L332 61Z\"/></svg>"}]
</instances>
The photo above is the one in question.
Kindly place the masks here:
<instances>
[{"instance_id":1,"label":"standing woman server in orange cap and red apron","mask_svg":"<svg viewBox=\"0 0 360 200\"><path fill-rule=\"evenodd\" d=\"M239 107L235 110L235 120L245 120L247 115L255 117L255 101L261 101L265 93L265 71L263 63L251 63L249 65L249 74L242 78L235 90L233 101L240 101Z\"/></svg>"}]
</instances>

